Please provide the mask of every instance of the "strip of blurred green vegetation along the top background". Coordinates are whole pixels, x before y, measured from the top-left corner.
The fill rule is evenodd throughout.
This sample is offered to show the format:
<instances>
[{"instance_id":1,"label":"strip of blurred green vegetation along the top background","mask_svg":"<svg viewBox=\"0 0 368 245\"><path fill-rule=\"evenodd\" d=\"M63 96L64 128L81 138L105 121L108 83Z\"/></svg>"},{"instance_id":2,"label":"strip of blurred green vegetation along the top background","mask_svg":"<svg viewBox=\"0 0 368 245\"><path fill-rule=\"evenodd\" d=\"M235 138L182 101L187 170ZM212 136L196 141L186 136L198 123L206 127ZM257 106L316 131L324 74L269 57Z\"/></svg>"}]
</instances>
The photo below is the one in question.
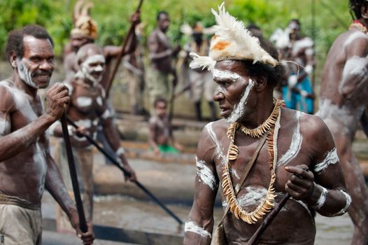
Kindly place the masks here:
<instances>
[{"instance_id":1,"label":"strip of blurred green vegetation along the top background","mask_svg":"<svg viewBox=\"0 0 368 245\"><path fill-rule=\"evenodd\" d=\"M55 39L55 53L60 55L62 47L68 41L72 27L72 11L75 0L0 0L0 56L8 31L23 25L36 23L43 25ZM99 24L100 45L120 45L129 29L129 15L138 5L138 0L92 0L92 18ZM214 24L211 8L217 8L219 0L145 0L141 19L148 34L155 28L156 14L167 10L171 16L169 36L178 43L185 43L179 27L183 22L190 24L202 20L204 25ZM270 36L277 27L285 27L292 18L299 18L302 31L312 36L313 0L230 0L226 1L227 10L248 25L254 22ZM316 0L315 31L318 70L323 66L325 56L334 39L345 31L351 21L348 12L348 0Z\"/></svg>"}]
</instances>

